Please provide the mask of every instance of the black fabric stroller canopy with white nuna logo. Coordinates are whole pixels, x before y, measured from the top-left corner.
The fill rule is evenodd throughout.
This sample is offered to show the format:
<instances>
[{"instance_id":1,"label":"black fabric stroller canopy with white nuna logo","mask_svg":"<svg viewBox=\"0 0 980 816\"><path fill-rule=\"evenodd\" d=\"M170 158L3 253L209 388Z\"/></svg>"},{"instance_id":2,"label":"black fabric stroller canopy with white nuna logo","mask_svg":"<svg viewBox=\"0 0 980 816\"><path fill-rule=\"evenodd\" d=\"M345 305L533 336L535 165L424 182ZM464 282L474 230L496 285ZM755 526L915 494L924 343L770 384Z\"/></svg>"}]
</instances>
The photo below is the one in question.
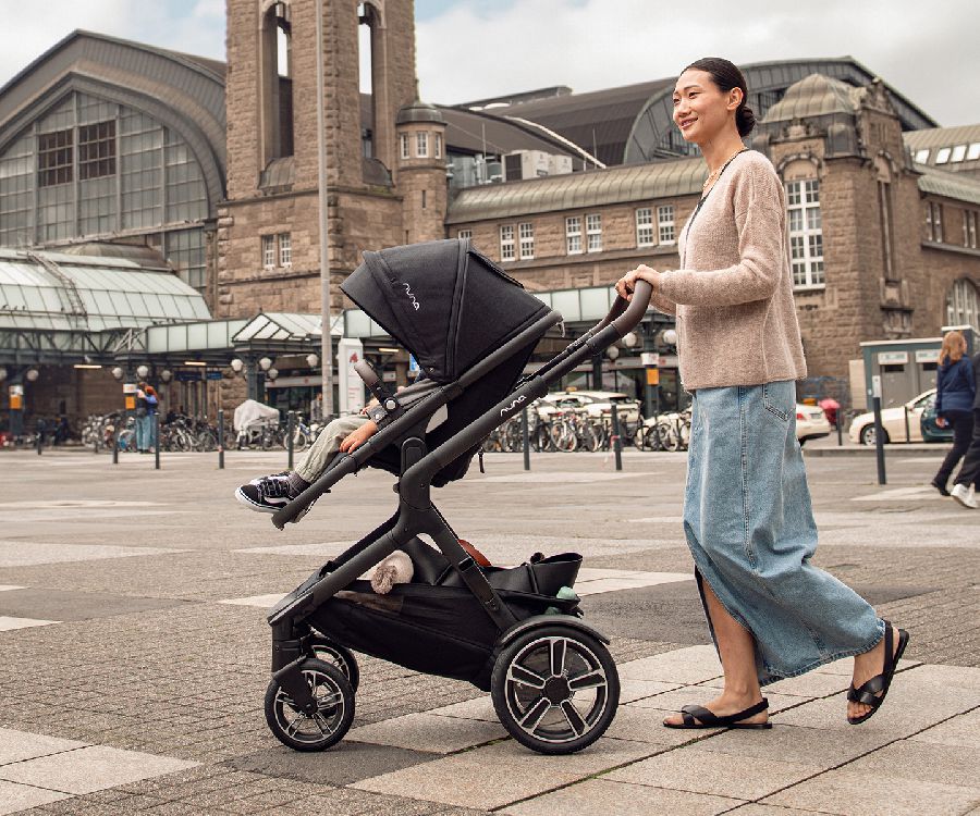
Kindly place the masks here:
<instances>
[{"instance_id":1,"label":"black fabric stroller canopy with white nuna logo","mask_svg":"<svg viewBox=\"0 0 980 816\"><path fill-rule=\"evenodd\" d=\"M439 383L457 380L548 311L468 238L366 251L341 289Z\"/></svg>"}]
</instances>

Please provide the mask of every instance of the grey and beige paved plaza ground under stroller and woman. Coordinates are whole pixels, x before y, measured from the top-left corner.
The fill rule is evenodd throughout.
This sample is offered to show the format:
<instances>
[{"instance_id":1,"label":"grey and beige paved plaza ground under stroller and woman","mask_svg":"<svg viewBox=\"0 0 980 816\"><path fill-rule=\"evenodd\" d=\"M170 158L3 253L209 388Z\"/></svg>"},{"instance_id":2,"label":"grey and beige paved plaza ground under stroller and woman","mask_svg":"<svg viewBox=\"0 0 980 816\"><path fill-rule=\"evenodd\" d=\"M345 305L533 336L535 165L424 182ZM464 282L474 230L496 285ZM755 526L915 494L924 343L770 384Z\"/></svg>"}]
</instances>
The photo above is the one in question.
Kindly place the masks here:
<instances>
[{"instance_id":1,"label":"grey and beige paved plaza ground under stroller and woman","mask_svg":"<svg viewBox=\"0 0 980 816\"><path fill-rule=\"evenodd\" d=\"M816 453L816 452L814 452ZM980 514L928 486L941 452L808 457L817 562L908 629L887 704L844 721L849 662L770 687L769 732L676 732L709 645L681 527L677 454L516 455L436 492L495 562L585 555L586 619L623 682L607 737L565 757L506 737L487 695L365 657L357 715L324 753L262 714L266 607L394 509L342 482L279 532L232 498L283 454L0 453L0 814L980 813ZM691 735L694 733L694 735Z\"/></svg>"}]
</instances>

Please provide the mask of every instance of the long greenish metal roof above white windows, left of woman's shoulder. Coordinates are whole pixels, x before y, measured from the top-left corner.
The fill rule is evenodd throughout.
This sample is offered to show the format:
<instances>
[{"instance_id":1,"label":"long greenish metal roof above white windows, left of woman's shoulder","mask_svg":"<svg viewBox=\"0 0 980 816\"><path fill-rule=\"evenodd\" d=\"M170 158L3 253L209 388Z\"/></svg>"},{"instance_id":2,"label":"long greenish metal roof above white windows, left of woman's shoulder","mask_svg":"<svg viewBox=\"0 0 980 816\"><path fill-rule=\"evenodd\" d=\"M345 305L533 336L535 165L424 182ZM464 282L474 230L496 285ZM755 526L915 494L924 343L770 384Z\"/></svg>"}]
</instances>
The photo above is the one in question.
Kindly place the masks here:
<instances>
[{"instance_id":1,"label":"long greenish metal roof above white windows, left of woman's shoulder","mask_svg":"<svg viewBox=\"0 0 980 816\"><path fill-rule=\"evenodd\" d=\"M467 187L453 200L448 224L556 212L602 205L700 195L705 162L677 159L586 173Z\"/></svg>"}]
</instances>

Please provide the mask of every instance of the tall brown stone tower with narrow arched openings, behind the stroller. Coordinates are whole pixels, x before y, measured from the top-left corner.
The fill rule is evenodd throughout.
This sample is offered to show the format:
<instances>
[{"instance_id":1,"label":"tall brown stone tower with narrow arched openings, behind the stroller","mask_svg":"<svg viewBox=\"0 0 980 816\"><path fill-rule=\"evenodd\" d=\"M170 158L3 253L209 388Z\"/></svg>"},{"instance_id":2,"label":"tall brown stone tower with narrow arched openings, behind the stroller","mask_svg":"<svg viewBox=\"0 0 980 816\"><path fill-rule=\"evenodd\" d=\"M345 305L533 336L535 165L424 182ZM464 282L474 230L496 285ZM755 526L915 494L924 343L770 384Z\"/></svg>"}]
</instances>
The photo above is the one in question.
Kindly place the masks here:
<instances>
[{"instance_id":1,"label":"tall brown stone tower with narrow arched openings, behind the stroller","mask_svg":"<svg viewBox=\"0 0 980 816\"><path fill-rule=\"evenodd\" d=\"M339 308L336 285L362 251L405 240L395 122L416 96L414 3L319 1ZM228 200L218 211L216 313L319 312L316 0L226 0L226 9ZM367 95L362 26L371 51Z\"/></svg>"}]
</instances>

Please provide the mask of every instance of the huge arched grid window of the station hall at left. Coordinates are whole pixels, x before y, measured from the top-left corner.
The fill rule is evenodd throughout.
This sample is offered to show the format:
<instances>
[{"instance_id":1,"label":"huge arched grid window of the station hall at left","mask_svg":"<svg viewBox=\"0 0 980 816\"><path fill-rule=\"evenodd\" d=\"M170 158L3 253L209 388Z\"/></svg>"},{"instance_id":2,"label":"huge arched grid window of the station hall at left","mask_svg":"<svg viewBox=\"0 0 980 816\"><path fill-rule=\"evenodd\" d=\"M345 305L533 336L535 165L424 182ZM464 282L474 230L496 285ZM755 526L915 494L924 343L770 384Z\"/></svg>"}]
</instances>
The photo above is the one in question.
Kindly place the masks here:
<instances>
[{"instance_id":1,"label":"huge arched grid window of the station hall at left","mask_svg":"<svg viewBox=\"0 0 980 816\"><path fill-rule=\"evenodd\" d=\"M207 218L191 147L124 104L69 94L0 151L0 246L143 236L201 288Z\"/></svg>"}]
</instances>

